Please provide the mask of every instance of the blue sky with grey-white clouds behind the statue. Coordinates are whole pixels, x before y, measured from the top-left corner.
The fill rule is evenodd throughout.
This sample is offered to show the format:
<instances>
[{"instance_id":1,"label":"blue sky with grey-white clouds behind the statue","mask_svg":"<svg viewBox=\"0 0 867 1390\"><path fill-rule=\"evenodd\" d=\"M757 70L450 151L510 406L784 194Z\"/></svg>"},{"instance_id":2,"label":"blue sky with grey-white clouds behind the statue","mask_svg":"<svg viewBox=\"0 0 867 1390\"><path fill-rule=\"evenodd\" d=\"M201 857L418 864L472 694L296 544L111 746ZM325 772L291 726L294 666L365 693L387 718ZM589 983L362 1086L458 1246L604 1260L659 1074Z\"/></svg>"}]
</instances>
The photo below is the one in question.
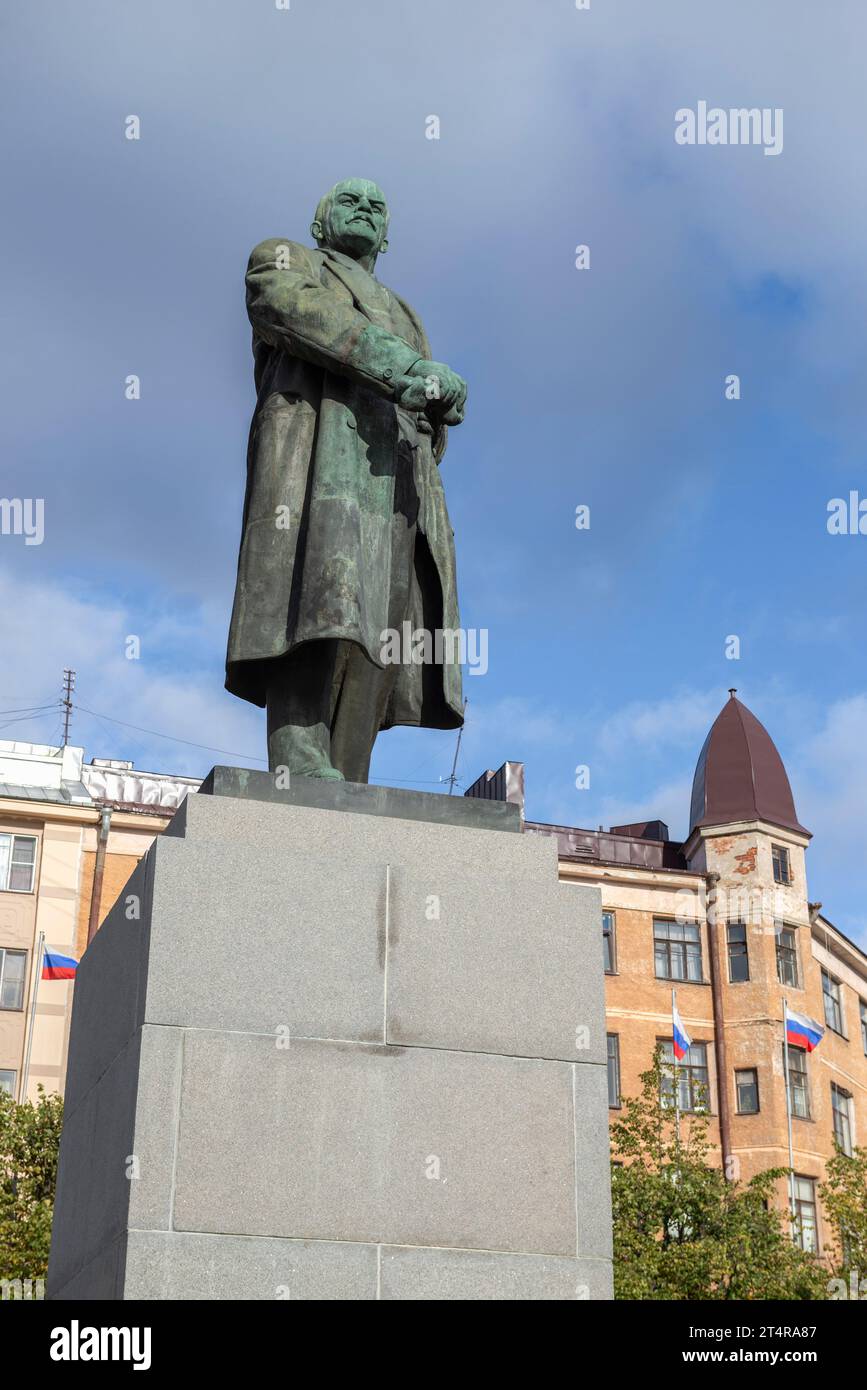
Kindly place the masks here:
<instances>
[{"instance_id":1,"label":"blue sky with grey-white clouds behind the statue","mask_svg":"<svg viewBox=\"0 0 867 1390\"><path fill-rule=\"evenodd\" d=\"M735 685L814 831L811 897L867 940L867 537L825 527L831 498L867 495L866 39L859 0L7 11L0 491L44 498L46 537L0 537L0 710L72 666L101 716L75 716L88 756L264 756L263 716L222 691L243 270L370 177L379 275L470 382L443 464L463 621L489 630L463 783L522 759L531 817L682 835ZM781 107L782 153L677 145L699 100ZM47 710L1 737L57 730ZM393 731L372 774L436 790L453 752Z\"/></svg>"}]
</instances>

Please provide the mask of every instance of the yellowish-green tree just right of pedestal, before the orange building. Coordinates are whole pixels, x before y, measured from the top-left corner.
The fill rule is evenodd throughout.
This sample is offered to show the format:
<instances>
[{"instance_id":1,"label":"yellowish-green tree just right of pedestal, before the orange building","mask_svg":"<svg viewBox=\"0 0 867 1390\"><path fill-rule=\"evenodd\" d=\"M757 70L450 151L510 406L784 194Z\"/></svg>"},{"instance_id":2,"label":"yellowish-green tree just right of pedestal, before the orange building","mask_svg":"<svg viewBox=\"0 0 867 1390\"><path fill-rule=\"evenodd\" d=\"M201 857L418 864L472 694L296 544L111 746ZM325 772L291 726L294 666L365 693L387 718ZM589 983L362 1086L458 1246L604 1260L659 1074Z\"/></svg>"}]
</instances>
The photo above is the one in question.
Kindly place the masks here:
<instances>
[{"instance_id":1,"label":"yellowish-green tree just right of pedestal, before the orange building","mask_svg":"<svg viewBox=\"0 0 867 1390\"><path fill-rule=\"evenodd\" d=\"M678 1136L666 1076L657 1048L642 1094L611 1126L616 1297L825 1298L827 1270L773 1204L786 1169L727 1182L707 1161L706 1115L682 1115Z\"/></svg>"}]
</instances>

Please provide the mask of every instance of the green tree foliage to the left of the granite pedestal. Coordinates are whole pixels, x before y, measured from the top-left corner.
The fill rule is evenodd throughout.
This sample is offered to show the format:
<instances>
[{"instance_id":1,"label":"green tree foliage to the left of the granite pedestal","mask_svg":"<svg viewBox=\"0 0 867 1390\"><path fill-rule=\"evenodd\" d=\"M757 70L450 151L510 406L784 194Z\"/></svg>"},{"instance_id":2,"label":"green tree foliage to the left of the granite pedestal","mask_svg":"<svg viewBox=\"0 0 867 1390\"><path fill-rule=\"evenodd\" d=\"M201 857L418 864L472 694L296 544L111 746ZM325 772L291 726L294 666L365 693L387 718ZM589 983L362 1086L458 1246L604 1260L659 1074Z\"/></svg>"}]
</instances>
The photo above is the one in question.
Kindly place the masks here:
<instances>
[{"instance_id":1,"label":"green tree foliage to the left of the granite pedestal","mask_svg":"<svg viewBox=\"0 0 867 1390\"><path fill-rule=\"evenodd\" d=\"M0 1091L0 1280L44 1279L63 1099L39 1087L18 1105Z\"/></svg>"}]
</instances>

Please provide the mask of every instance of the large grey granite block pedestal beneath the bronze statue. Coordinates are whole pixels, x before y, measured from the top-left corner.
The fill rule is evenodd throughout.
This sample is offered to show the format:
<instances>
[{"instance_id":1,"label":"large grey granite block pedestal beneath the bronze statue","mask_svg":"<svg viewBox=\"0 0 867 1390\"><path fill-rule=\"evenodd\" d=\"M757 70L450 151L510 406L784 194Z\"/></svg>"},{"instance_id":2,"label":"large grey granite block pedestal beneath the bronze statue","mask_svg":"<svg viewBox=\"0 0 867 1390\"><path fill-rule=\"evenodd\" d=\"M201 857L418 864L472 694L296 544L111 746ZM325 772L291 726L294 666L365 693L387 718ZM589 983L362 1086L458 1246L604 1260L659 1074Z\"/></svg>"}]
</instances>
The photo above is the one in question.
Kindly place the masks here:
<instances>
[{"instance_id":1,"label":"large grey granite block pedestal beneath the bronze statue","mask_svg":"<svg viewBox=\"0 0 867 1390\"><path fill-rule=\"evenodd\" d=\"M49 1297L609 1298L599 891L304 783L215 769L82 959Z\"/></svg>"}]
</instances>

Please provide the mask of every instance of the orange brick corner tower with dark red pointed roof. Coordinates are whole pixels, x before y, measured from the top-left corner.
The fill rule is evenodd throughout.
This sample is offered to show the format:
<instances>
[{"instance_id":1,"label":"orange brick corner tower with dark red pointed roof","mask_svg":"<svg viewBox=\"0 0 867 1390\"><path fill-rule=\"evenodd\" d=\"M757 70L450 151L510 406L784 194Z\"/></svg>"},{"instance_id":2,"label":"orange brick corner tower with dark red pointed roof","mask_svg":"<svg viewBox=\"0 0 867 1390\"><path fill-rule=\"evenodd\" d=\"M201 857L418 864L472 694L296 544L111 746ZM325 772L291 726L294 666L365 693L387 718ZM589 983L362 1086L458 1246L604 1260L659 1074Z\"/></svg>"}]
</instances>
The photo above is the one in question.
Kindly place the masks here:
<instances>
[{"instance_id":1,"label":"orange brick corner tower with dark red pointed roof","mask_svg":"<svg viewBox=\"0 0 867 1390\"><path fill-rule=\"evenodd\" d=\"M809 841L771 735L731 691L699 753L684 853L706 874L720 1129L735 1177L788 1166L782 998L807 1009Z\"/></svg>"}]
</instances>

